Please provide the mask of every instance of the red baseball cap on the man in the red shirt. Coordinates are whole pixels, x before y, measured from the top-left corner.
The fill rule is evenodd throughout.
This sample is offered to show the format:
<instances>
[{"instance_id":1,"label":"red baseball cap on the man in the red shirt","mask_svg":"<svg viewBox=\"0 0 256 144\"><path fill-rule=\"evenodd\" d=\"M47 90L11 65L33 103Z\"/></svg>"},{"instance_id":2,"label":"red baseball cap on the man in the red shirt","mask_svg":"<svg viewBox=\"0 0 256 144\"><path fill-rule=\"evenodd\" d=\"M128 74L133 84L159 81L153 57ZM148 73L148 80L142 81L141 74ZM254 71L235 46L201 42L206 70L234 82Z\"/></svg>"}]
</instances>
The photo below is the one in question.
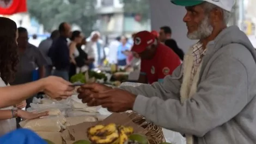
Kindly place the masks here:
<instances>
[{"instance_id":1,"label":"red baseball cap on the man in the red shirt","mask_svg":"<svg viewBox=\"0 0 256 144\"><path fill-rule=\"evenodd\" d=\"M136 53L141 53L145 51L147 46L152 45L155 42L155 35L151 34L148 31L142 31L138 32L134 36L134 43L132 46L131 51L136 52Z\"/></svg>"}]
</instances>

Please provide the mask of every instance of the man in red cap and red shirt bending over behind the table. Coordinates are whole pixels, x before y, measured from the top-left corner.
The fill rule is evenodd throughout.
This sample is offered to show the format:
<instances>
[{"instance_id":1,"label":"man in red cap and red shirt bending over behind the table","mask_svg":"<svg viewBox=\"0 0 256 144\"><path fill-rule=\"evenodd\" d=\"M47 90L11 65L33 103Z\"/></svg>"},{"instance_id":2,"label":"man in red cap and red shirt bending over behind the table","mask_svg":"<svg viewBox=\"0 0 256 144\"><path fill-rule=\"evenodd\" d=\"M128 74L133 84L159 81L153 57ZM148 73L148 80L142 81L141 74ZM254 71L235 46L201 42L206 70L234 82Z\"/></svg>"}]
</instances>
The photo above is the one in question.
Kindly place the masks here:
<instances>
[{"instance_id":1,"label":"man in red cap and red shirt bending over behind the table","mask_svg":"<svg viewBox=\"0 0 256 144\"><path fill-rule=\"evenodd\" d=\"M132 52L141 57L139 83L161 82L180 65L180 59L172 49L156 40L155 35L142 31L135 35Z\"/></svg>"}]
</instances>

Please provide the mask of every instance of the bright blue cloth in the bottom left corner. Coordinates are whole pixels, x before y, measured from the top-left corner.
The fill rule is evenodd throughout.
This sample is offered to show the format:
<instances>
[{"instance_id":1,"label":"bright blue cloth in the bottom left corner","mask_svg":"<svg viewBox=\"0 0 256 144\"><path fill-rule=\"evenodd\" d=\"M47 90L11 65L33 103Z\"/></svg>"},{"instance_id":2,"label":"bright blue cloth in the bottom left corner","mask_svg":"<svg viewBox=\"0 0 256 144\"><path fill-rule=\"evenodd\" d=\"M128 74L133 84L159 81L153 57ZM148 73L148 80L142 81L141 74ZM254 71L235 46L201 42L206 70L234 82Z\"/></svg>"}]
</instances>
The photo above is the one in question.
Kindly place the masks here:
<instances>
[{"instance_id":1,"label":"bright blue cloth in the bottom left corner","mask_svg":"<svg viewBox=\"0 0 256 144\"><path fill-rule=\"evenodd\" d=\"M17 129L0 137L1 144L47 144L32 130Z\"/></svg>"}]
</instances>

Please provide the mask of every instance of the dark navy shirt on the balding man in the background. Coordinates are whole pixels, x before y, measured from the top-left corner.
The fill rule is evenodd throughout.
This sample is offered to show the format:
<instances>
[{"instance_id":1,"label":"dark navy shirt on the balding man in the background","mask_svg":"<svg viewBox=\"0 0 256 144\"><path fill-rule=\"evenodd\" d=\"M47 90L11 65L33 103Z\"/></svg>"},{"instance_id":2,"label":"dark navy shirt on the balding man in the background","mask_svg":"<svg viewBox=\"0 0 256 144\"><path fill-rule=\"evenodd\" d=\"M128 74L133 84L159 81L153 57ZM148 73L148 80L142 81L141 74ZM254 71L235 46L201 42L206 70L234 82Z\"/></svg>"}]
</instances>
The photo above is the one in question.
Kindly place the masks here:
<instances>
[{"instance_id":1,"label":"dark navy shirt on the balding man in the background","mask_svg":"<svg viewBox=\"0 0 256 144\"><path fill-rule=\"evenodd\" d=\"M66 37L60 36L57 40L53 41L48 56L51 58L56 70L69 70L70 58Z\"/></svg>"}]
</instances>

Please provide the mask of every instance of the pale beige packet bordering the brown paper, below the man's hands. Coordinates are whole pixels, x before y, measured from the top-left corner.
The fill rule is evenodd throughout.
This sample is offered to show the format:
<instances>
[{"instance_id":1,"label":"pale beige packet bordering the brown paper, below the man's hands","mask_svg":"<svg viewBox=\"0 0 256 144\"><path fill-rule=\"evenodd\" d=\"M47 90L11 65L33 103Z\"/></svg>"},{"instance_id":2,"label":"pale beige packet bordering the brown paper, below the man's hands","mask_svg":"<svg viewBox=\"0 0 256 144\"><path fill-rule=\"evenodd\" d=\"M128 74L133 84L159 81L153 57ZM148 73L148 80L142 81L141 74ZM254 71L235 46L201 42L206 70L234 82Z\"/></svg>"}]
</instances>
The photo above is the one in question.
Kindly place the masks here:
<instances>
[{"instance_id":1,"label":"pale beige packet bordering the brown paper, below the man's hands","mask_svg":"<svg viewBox=\"0 0 256 144\"><path fill-rule=\"evenodd\" d=\"M67 117L66 127L75 126L76 124L83 122L96 122L97 118L94 116L77 116L77 117Z\"/></svg>"}]
</instances>

